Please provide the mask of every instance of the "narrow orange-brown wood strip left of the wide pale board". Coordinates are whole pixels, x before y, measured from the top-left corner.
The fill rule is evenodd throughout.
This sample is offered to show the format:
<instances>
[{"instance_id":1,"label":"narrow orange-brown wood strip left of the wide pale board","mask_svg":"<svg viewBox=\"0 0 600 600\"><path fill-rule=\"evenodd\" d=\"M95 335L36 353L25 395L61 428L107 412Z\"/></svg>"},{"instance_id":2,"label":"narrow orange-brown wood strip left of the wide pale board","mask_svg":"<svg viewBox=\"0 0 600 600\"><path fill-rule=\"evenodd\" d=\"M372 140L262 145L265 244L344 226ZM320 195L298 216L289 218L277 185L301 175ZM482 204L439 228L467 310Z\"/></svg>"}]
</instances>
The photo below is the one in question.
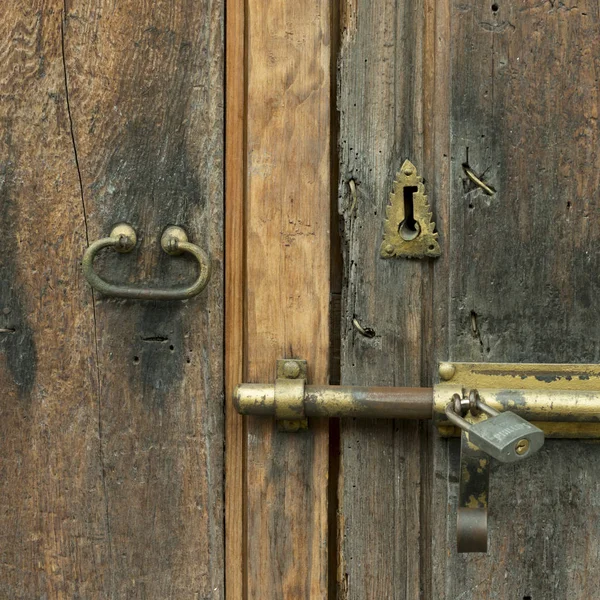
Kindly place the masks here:
<instances>
[{"instance_id":1,"label":"narrow orange-brown wood strip left of the wide pale board","mask_svg":"<svg viewBox=\"0 0 600 600\"><path fill-rule=\"evenodd\" d=\"M243 598L244 423L233 390L244 380L245 4L227 3L225 159L225 591Z\"/></svg>"}]
</instances>

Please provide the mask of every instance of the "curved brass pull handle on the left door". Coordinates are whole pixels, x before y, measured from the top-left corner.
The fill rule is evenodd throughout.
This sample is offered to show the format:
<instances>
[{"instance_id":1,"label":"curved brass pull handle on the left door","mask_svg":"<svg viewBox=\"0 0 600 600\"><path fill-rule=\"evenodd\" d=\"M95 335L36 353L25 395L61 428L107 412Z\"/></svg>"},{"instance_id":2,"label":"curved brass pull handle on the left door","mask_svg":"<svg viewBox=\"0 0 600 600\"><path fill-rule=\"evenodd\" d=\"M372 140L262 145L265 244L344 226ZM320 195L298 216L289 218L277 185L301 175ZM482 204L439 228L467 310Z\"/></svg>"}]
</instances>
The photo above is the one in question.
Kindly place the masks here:
<instances>
[{"instance_id":1,"label":"curved brass pull handle on the left door","mask_svg":"<svg viewBox=\"0 0 600 600\"><path fill-rule=\"evenodd\" d=\"M119 223L110 232L110 237L102 238L90 244L83 255L83 274L88 283L105 296L118 298L133 298L136 300L185 300L199 294L208 284L210 279L210 259L206 252L188 241L185 231L181 227L170 226L165 229L160 239L161 248L171 256L188 252L197 261L200 272L196 281L183 288L143 288L127 285L115 285L104 281L94 271L94 258L102 248L114 248L117 252L131 252L137 242L135 230L127 223Z\"/></svg>"}]
</instances>

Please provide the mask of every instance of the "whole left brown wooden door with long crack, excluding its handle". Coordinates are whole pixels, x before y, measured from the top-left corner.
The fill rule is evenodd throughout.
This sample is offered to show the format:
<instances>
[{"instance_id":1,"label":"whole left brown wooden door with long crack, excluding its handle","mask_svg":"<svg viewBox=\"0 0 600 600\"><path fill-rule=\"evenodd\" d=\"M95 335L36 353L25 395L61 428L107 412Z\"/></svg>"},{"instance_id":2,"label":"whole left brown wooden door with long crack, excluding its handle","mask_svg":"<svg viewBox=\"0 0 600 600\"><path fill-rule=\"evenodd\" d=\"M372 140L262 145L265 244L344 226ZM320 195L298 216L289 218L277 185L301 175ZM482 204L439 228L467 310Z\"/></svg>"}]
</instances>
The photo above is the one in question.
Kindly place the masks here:
<instances>
[{"instance_id":1,"label":"whole left brown wooden door with long crack, excluding its handle","mask_svg":"<svg viewBox=\"0 0 600 600\"><path fill-rule=\"evenodd\" d=\"M224 597L223 9L8 1L0 14L0 597ZM107 298L83 278L174 286Z\"/></svg>"}]
</instances>

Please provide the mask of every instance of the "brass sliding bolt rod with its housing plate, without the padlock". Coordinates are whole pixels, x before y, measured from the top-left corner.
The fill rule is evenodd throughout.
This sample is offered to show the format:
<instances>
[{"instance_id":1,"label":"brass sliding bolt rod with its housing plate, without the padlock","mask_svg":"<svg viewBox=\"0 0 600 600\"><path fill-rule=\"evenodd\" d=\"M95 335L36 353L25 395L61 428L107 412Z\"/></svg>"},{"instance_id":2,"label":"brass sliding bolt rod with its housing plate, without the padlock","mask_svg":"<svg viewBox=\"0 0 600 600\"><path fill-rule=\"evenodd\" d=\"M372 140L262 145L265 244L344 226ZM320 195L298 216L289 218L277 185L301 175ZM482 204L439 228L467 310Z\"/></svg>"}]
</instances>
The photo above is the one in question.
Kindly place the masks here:
<instances>
[{"instance_id":1,"label":"brass sliding bolt rod with its housing plate, without the padlock","mask_svg":"<svg viewBox=\"0 0 600 600\"><path fill-rule=\"evenodd\" d=\"M278 378L286 369L288 377L302 378L292 362L278 363ZM457 437L460 429L448 421L446 406L454 394L476 388L487 405L516 413L547 438L600 438L600 365L442 363L440 376L433 389L307 385L304 415L433 418L443 437ZM275 416L275 386L242 384L234 403L242 414Z\"/></svg>"}]
</instances>

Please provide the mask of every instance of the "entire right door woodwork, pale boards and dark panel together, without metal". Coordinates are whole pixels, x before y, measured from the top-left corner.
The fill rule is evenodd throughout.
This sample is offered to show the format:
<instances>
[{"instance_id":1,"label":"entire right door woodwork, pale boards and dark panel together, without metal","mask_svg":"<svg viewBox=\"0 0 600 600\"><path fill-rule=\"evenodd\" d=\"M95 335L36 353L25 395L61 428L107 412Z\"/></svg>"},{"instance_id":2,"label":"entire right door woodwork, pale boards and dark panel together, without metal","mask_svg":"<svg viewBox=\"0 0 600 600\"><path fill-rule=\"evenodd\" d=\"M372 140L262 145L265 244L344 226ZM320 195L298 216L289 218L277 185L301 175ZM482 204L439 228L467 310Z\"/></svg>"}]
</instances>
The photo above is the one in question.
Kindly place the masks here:
<instances>
[{"instance_id":1,"label":"entire right door woodwork, pale boards and dark panel together, without metal","mask_svg":"<svg viewBox=\"0 0 600 600\"><path fill-rule=\"evenodd\" d=\"M594 3L234 1L228 23L229 392L283 357L382 386L598 362ZM379 255L406 159L437 259ZM230 598L600 597L595 442L495 466L489 553L459 555L458 443L431 423L227 422Z\"/></svg>"}]
</instances>

